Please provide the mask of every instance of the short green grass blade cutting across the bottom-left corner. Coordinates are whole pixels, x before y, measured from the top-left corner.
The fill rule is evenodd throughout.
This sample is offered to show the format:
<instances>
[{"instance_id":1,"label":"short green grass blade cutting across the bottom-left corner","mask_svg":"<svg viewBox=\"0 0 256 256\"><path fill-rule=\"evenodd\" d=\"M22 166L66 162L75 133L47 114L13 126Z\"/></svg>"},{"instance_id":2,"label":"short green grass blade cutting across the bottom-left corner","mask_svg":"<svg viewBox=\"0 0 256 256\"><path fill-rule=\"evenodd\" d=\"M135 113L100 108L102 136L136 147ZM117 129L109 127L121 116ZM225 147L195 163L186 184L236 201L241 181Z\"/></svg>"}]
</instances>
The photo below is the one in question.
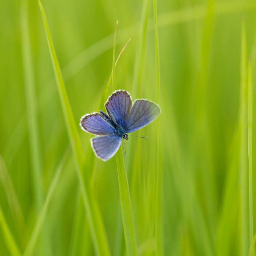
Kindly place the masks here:
<instances>
[{"instance_id":1,"label":"short green grass blade cutting across the bottom-left corner","mask_svg":"<svg viewBox=\"0 0 256 256\"><path fill-rule=\"evenodd\" d=\"M20 256L20 250L14 240L12 232L4 218L4 213L0 206L0 226L2 228L3 238L6 244L7 249L9 250L12 256Z\"/></svg>"}]
</instances>

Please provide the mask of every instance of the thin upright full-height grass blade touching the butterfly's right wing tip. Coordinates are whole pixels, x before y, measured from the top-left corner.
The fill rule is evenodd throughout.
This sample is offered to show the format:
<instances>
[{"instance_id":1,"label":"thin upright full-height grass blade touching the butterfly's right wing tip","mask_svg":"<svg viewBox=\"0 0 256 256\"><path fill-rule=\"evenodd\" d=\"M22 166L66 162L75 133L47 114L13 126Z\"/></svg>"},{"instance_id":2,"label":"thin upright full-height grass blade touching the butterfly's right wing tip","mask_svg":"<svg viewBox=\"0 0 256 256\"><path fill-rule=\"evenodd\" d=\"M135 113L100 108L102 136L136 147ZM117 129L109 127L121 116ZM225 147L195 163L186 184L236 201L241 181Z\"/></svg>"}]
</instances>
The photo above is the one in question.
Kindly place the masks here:
<instances>
[{"instance_id":1,"label":"thin upright full-height grass blade touching the butterfly's right wing tip","mask_svg":"<svg viewBox=\"0 0 256 256\"><path fill-rule=\"evenodd\" d=\"M160 104L160 66L159 66L159 43L157 26L157 0L153 0L154 25L155 25L155 53L156 53L156 98ZM160 125L159 118L156 123L156 255L163 255L163 169L162 155L160 154Z\"/></svg>"}]
</instances>

